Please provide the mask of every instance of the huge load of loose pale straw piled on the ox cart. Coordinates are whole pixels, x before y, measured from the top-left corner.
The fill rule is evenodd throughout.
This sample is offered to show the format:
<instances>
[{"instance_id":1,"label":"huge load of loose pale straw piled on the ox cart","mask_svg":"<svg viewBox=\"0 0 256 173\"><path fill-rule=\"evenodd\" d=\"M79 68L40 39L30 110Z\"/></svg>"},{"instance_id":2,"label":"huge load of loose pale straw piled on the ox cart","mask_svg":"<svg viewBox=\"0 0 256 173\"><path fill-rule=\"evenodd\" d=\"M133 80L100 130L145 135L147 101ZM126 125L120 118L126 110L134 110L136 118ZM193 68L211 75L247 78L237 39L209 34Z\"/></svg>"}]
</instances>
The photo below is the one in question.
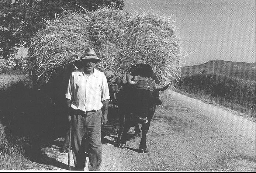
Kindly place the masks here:
<instances>
[{"instance_id":1,"label":"huge load of loose pale straw piled on the ox cart","mask_svg":"<svg viewBox=\"0 0 256 173\"><path fill-rule=\"evenodd\" d=\"M110 8L67 13L33 38L29 69L39 82L48 82L91 47L102 59L98 68L127 73L132 64L147 63L162 83L172 83L183 56L175 22L156 14L132 18Z\"/></svg>"}]
</instances>

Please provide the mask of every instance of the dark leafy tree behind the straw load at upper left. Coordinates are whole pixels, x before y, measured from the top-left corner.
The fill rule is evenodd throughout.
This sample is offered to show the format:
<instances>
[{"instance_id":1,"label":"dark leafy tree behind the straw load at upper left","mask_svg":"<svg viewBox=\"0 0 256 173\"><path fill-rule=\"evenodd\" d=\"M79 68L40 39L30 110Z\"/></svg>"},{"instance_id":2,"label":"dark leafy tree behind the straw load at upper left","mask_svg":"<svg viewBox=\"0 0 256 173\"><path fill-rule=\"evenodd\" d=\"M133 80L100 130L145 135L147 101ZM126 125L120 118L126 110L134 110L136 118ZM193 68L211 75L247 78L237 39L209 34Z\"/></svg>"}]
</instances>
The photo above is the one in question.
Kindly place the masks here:
<instances>
[{"instance_id":1,"label":"dark leafy tree behind the straw load at upper left","mask_svg":"<svg viewBox=\"0 0 256 173\"><path fill-rule=\"evenodd\" d=\"M111 6L122 10L122 0L0 0L0 56L8 58L19 47L28 47L30 39L47 22L63 10L94 10Z\"/></svg>"}]
</instances>

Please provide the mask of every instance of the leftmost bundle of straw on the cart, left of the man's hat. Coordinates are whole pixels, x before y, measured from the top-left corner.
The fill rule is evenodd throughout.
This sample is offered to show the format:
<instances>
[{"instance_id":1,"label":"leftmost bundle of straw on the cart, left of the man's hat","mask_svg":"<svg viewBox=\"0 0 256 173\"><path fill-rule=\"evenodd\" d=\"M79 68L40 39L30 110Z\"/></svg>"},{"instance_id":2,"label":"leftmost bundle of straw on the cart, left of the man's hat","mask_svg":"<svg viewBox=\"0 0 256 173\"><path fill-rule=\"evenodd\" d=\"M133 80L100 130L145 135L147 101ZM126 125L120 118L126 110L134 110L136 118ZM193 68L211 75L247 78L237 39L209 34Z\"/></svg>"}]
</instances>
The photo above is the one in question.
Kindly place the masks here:
<instances>
[{"instance_id":1,"label":"leftmost bundle of straw on the cart, left of the man's hat","mask_svg":"<svg viewBox=\"0 0 256 173\"><path fill-rule=\"evenodd\" d=\"M48 24L32 39L29 48L29 70L42 82L48 81L55 68L77 59L90 46L85 14L66 14Z\"/></svg>"}]
</instances>

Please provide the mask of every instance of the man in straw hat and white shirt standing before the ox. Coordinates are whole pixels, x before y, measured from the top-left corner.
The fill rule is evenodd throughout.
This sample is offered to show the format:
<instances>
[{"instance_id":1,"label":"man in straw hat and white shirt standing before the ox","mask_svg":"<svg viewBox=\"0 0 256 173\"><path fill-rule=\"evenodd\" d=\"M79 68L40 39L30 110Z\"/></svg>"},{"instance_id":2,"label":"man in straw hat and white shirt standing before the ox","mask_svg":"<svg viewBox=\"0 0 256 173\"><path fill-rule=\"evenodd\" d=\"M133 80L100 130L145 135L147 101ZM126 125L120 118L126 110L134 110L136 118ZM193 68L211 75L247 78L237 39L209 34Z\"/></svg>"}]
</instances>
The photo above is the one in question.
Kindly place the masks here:
<instances>
[{"instance_id":1,"label":"man in straw hat and white shirt standing before the ox","mask_svg":"<svg viewBox=\"0 0 256 173\"><path fill-rule=\"evenodd\" d=\"M101 59L94 50L87 48L80 60L83 67L72 72L65 94L72 122L73 159L75 169L84 170L88 153L89 170L96 171L101 165L101 125L108 121L110 96L104 73L95 69Z\"/></svg>"}]
</instances>

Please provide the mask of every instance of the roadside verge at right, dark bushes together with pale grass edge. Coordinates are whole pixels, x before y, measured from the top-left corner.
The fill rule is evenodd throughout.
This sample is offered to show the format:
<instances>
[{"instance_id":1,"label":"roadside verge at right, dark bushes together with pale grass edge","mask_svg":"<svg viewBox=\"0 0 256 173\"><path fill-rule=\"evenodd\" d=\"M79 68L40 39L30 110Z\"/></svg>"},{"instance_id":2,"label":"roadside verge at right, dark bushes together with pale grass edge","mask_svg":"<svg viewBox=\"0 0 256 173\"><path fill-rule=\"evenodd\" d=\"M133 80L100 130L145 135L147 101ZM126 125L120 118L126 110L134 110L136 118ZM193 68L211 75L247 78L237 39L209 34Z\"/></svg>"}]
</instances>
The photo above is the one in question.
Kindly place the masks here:
<instances>
[{"instance_id":1,"label":"roadside verge at right, dark bushes together with pale grass edge","mask_svg":"<svg viewBox=\"0 0 256 173\"><path fill-rule=\"evenodd\" d=\"M186 76L177 92L255 117L255 82L218 74Z\"/></svg>"}]
</instances>

